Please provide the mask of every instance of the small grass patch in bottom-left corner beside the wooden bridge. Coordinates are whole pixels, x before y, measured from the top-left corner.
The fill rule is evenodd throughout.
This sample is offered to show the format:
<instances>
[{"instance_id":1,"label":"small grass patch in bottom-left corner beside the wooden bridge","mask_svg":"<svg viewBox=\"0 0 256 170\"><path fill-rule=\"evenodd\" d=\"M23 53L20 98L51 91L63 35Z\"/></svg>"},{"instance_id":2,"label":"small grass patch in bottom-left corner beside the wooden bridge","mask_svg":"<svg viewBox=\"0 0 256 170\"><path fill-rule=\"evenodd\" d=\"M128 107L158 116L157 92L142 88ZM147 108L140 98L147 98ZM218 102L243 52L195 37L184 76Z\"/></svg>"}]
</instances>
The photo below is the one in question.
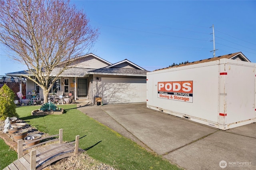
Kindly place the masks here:
<instances>
[{"instance_id":1,"label":"small grass patch in bottom-left corner beside the wooden bridge","mask_svg":"<svg viewBox=\"0 0 256 170\"><path fill-rule=\"evenodd\" d=\"M0 138L0 169L4 169L18 157L17 153Z\"/></svg>"}]
</instances>

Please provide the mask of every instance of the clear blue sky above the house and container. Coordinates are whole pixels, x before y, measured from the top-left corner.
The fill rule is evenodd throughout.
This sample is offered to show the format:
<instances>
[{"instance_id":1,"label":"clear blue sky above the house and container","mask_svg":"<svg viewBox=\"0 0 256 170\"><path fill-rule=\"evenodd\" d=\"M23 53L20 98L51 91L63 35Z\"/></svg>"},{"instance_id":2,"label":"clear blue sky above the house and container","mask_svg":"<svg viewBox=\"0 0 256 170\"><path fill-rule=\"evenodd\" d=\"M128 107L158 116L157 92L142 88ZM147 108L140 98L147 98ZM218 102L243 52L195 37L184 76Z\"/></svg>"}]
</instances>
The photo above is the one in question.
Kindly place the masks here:
<instances>
[{"instance_id":1,"label":"clear blue sky above the house and container","mask_svg":"<svg viewBox=\"0 0 256 170\"><path fill-rule=\"evenodd\" d=\"M128 59L153 71L182 61L242 52L256 63L256 1L87 1L83 9L100 36L92 53L116 63ZM0 75L26 69L0 51Z\"/></svg>"}]
</instances>

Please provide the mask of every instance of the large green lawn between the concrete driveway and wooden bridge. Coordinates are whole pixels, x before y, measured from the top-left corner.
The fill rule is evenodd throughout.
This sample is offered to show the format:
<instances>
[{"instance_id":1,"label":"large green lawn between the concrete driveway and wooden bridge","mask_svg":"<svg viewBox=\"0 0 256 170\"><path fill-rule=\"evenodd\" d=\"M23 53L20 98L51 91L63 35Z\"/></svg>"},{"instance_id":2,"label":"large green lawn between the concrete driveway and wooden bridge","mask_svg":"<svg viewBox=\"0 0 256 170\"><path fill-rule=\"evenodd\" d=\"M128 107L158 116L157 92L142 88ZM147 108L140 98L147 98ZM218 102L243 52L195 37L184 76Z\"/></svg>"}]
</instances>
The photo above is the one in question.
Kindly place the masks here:
<instances>
[{"instance_id":1,"label":"large green lawn between the concrete driveway and wooden bridge","mask_svg":"<svg viewBox=\"0 0 256 170\"><path fill-rule=\"evenodd\" d=\"M66 110L62 115L31 116L39 106L18 107L19 118L36 127L39 131L58 134L63 129L63 140L73 141L80 135L79 147L100 162L119 170L171 170L178 169L161 156L144 148L91 119L76 109L76 105L61 106Z\"/></svg>"}]
</instances>

